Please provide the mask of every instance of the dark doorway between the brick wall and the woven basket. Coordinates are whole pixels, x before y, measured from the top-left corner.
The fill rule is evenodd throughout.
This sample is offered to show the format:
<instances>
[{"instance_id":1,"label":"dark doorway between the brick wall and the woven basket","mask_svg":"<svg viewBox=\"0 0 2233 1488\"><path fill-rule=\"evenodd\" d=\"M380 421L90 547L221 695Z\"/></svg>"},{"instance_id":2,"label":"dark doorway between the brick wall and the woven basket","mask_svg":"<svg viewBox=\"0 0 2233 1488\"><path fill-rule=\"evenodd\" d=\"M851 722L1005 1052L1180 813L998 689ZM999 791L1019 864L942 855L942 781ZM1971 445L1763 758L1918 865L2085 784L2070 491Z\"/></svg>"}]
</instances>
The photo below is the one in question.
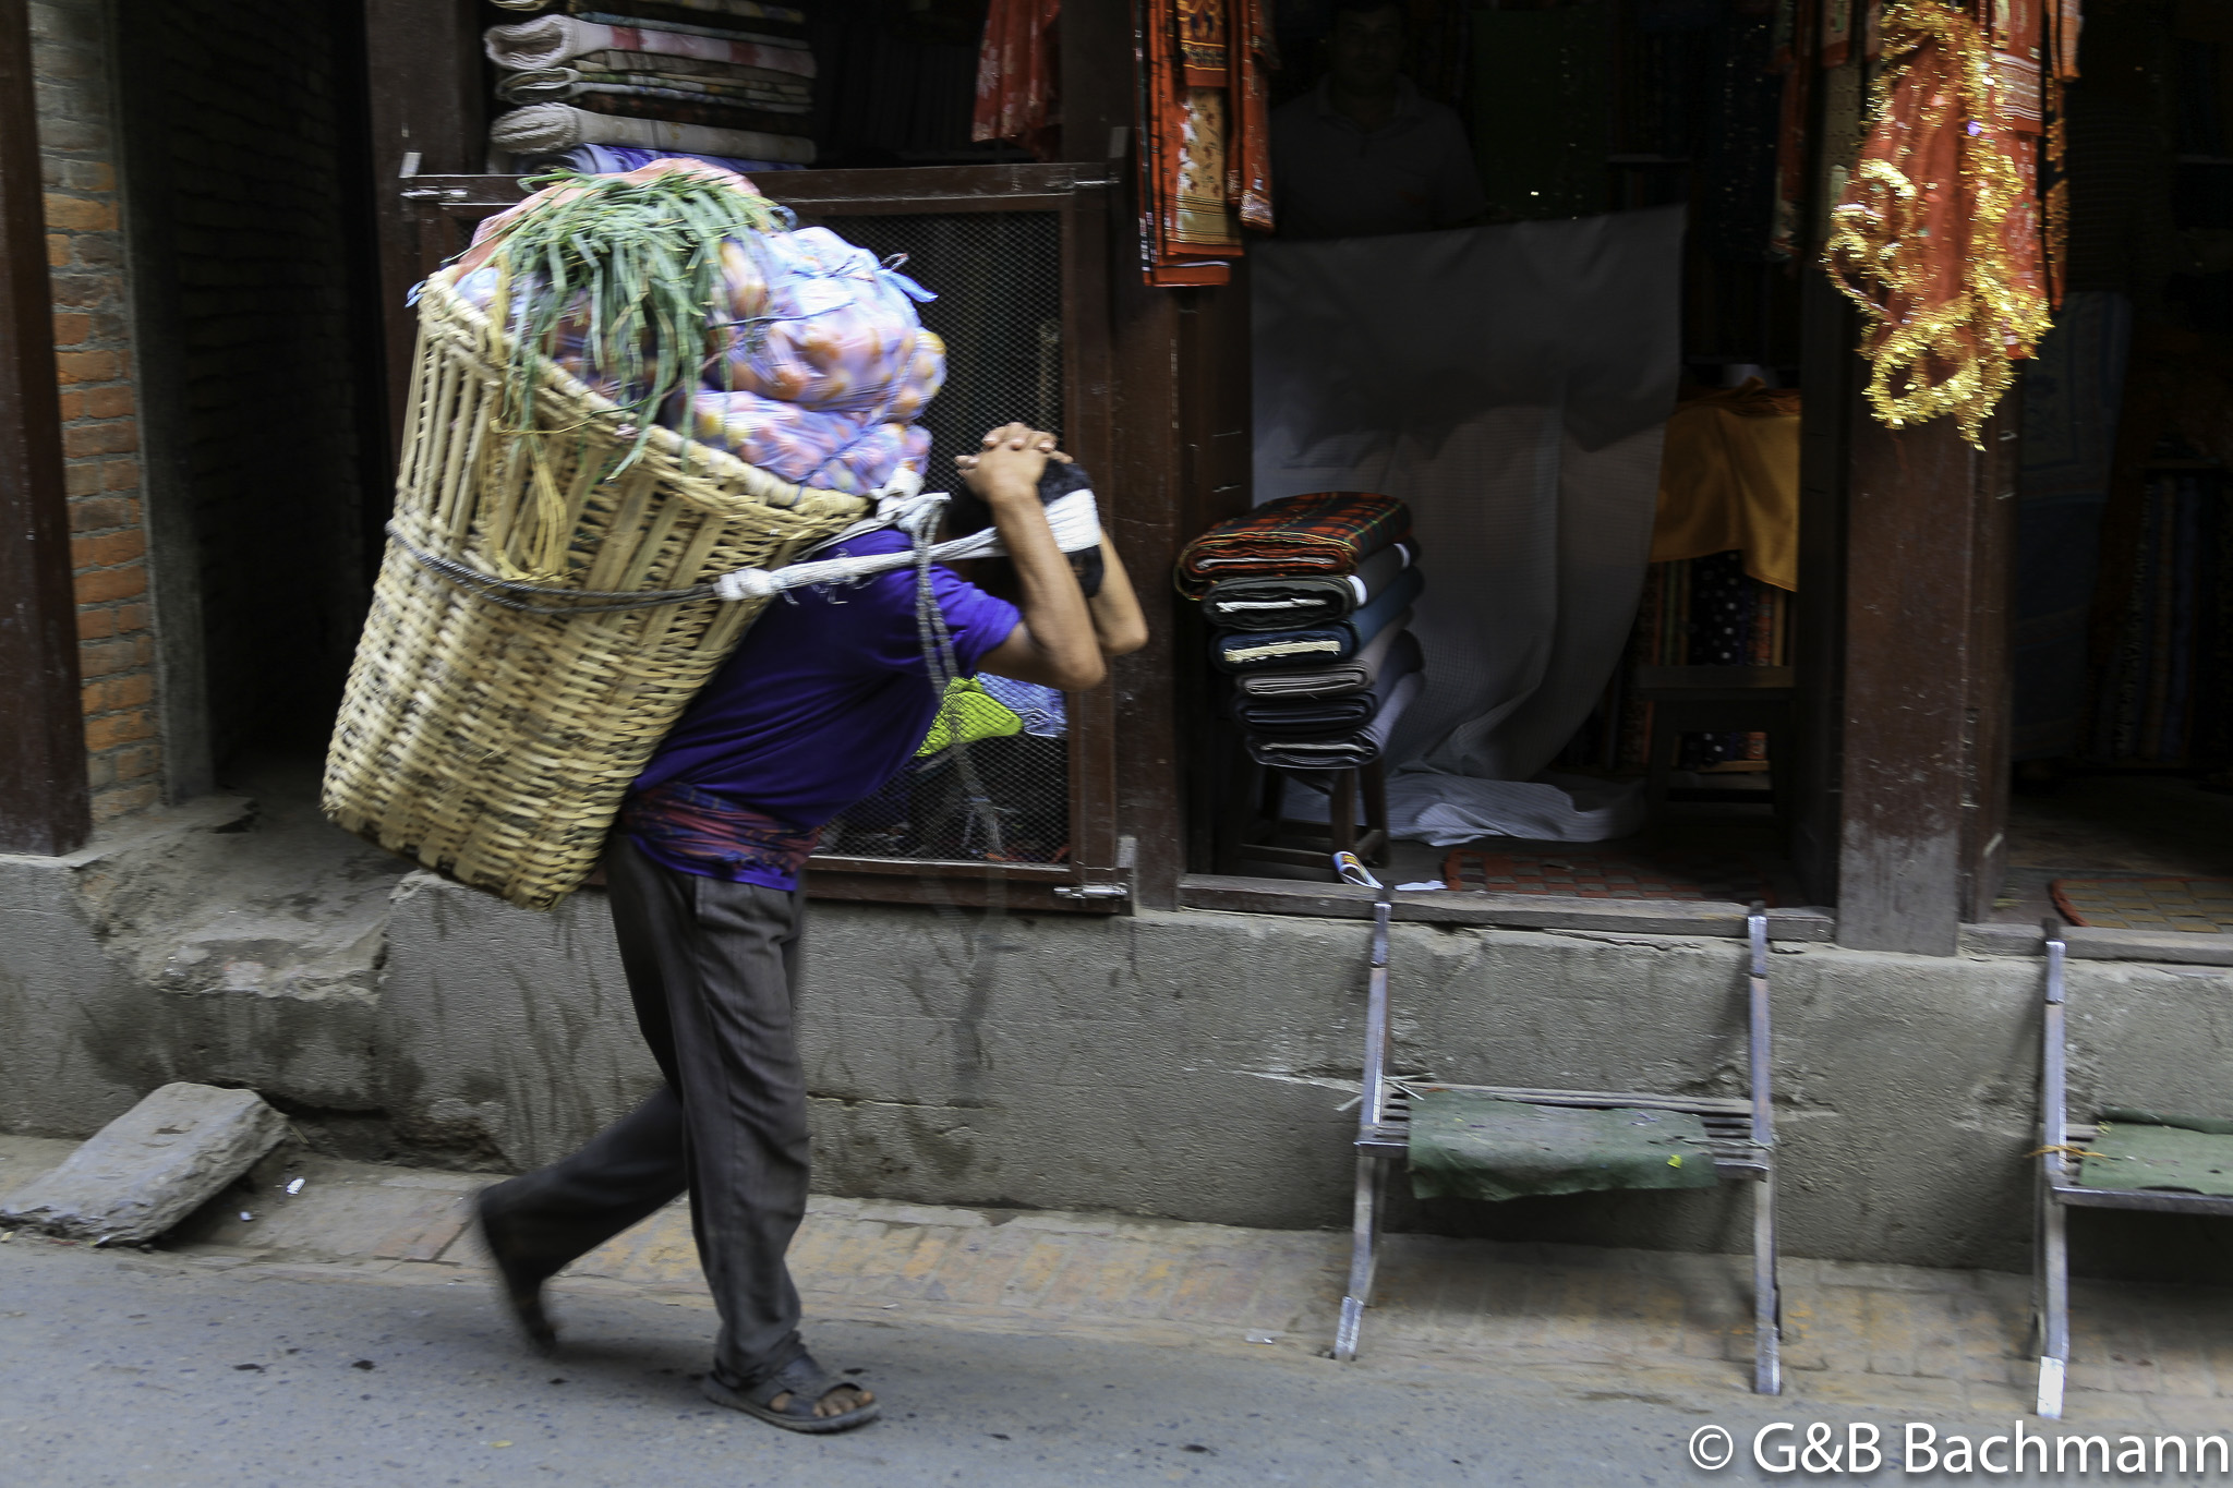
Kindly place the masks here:
<instances>
[{"instance_id":1,"label":"dark doorway between the brick wall and the woven basket","mask_svg":"<svg viewBox=\"0 0 2233 1488\"><path fill-rule=\"evenodd\" d=\"M123 0L116 27L176 799L322 750L368 596L364 18Z\"/></svg>"}]
</instances>

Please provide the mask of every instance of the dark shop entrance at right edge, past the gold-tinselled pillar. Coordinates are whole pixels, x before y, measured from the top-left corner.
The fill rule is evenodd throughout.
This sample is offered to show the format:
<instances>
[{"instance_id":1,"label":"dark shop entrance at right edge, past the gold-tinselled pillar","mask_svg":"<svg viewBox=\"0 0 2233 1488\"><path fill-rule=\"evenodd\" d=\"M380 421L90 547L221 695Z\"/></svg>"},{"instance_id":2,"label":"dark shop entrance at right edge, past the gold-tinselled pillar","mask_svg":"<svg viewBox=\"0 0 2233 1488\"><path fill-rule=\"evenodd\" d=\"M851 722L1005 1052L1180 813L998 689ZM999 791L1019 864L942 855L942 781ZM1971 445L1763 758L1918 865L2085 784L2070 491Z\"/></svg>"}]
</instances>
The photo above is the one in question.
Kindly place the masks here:
<instances>
[{"instance_id":1,"label":"dark shop entrance at right edge, past the gold-tinselled pillar","mask_svg":"<svg viewBox=\"0 0 2233 1488\"><path fill-rule=\"evenodd\" d=\"M1994 919L2233 930L2233 20L2088 7L2070 283L2023 377Z\"/></svg>"}]
</instances>

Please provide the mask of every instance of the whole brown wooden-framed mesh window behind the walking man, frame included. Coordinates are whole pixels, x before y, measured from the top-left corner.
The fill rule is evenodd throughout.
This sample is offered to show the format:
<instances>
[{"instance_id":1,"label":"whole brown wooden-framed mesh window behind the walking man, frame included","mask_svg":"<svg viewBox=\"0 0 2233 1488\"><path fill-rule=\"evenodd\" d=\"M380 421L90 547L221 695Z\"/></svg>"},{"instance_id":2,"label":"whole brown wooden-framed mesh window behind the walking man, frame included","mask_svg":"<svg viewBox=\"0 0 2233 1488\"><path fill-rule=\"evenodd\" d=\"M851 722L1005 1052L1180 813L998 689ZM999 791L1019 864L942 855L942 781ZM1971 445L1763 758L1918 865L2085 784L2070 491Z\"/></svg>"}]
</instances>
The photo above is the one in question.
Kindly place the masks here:
<instances>
[{"instance_id":1,"label":"whole brown wooden-framed mesh window behind the walking man, frame included","mask_svg":"<svg viewBox=\"0 0 2233 1488\"><path fill-rule=\"evenodd\" d=\"M1101 473L1114 457L1110 181L1085 165L777 172L757 178L799 225L826 225L938 292L922 321L947 341L947 386L924 410L933 489L987 428L1047 428ZM518 176L406 176L384 252L393 303L460 252L473 223L520 201ZM389 323L409 364L411 315ZM395 384L402 408L404 384ZM1108 511L1110 493L1103 493ZM998 591L1007 564L969 578ZM978 678L942 709L971 743L918 756L822 837L808 890L824 899L1112 910L1130 899L1116 825L1116 718L1108 687L1063 696ZM942 743L942 741L938 741Z\"/></svg>"}]
</instances>

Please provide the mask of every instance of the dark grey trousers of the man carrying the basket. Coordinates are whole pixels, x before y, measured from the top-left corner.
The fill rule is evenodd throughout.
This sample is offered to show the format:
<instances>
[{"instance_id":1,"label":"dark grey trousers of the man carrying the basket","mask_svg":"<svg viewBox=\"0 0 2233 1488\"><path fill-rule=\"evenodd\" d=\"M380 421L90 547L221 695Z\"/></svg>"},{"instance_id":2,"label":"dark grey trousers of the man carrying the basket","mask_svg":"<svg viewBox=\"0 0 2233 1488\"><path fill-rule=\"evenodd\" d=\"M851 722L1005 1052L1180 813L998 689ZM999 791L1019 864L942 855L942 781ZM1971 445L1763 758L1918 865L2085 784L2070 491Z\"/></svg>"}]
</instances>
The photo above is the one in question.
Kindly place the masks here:
<instances>
[{"instance_id":1,"label":"dark grey trousers of the man carrying the basket","mask_svg":"<svg viewBox=\"0 0 2233 1488\"><path fill-rule=\"evenodd\" d=\"M715 1368L753 1385L804 1347L784 1263L806 1214L806 1075L793 1037L804 895L661 868L619 832L605 879L636 1026L665 1089L572 1158L489 1189L489 1223L549 1276L688 1189L721 1310Z\"/></svg>"}]
</instances>

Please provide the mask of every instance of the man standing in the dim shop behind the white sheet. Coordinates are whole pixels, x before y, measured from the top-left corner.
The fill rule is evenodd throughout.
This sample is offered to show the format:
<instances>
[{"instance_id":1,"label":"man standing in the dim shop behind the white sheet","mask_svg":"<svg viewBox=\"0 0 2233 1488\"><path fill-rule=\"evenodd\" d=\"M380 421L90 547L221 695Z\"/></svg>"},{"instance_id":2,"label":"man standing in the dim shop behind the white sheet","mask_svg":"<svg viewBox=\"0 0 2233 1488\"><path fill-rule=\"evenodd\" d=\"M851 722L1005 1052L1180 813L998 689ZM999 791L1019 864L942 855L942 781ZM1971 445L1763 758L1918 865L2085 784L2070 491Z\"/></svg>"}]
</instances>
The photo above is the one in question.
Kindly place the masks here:
<instances>
[{"instance_id":1,"label":"man standing in the dim shop behind the white sheet","mask_svg":"<svg viewBox=\"0 0 2233 1488\"><path fill-rule=\"evenodd\" d=\"M1465 125L1402 76L1396 0L1335 0L1326 76L1271 116L1280 236L1469 228L1485 201Z\"/></svg>"}]
</instances>

